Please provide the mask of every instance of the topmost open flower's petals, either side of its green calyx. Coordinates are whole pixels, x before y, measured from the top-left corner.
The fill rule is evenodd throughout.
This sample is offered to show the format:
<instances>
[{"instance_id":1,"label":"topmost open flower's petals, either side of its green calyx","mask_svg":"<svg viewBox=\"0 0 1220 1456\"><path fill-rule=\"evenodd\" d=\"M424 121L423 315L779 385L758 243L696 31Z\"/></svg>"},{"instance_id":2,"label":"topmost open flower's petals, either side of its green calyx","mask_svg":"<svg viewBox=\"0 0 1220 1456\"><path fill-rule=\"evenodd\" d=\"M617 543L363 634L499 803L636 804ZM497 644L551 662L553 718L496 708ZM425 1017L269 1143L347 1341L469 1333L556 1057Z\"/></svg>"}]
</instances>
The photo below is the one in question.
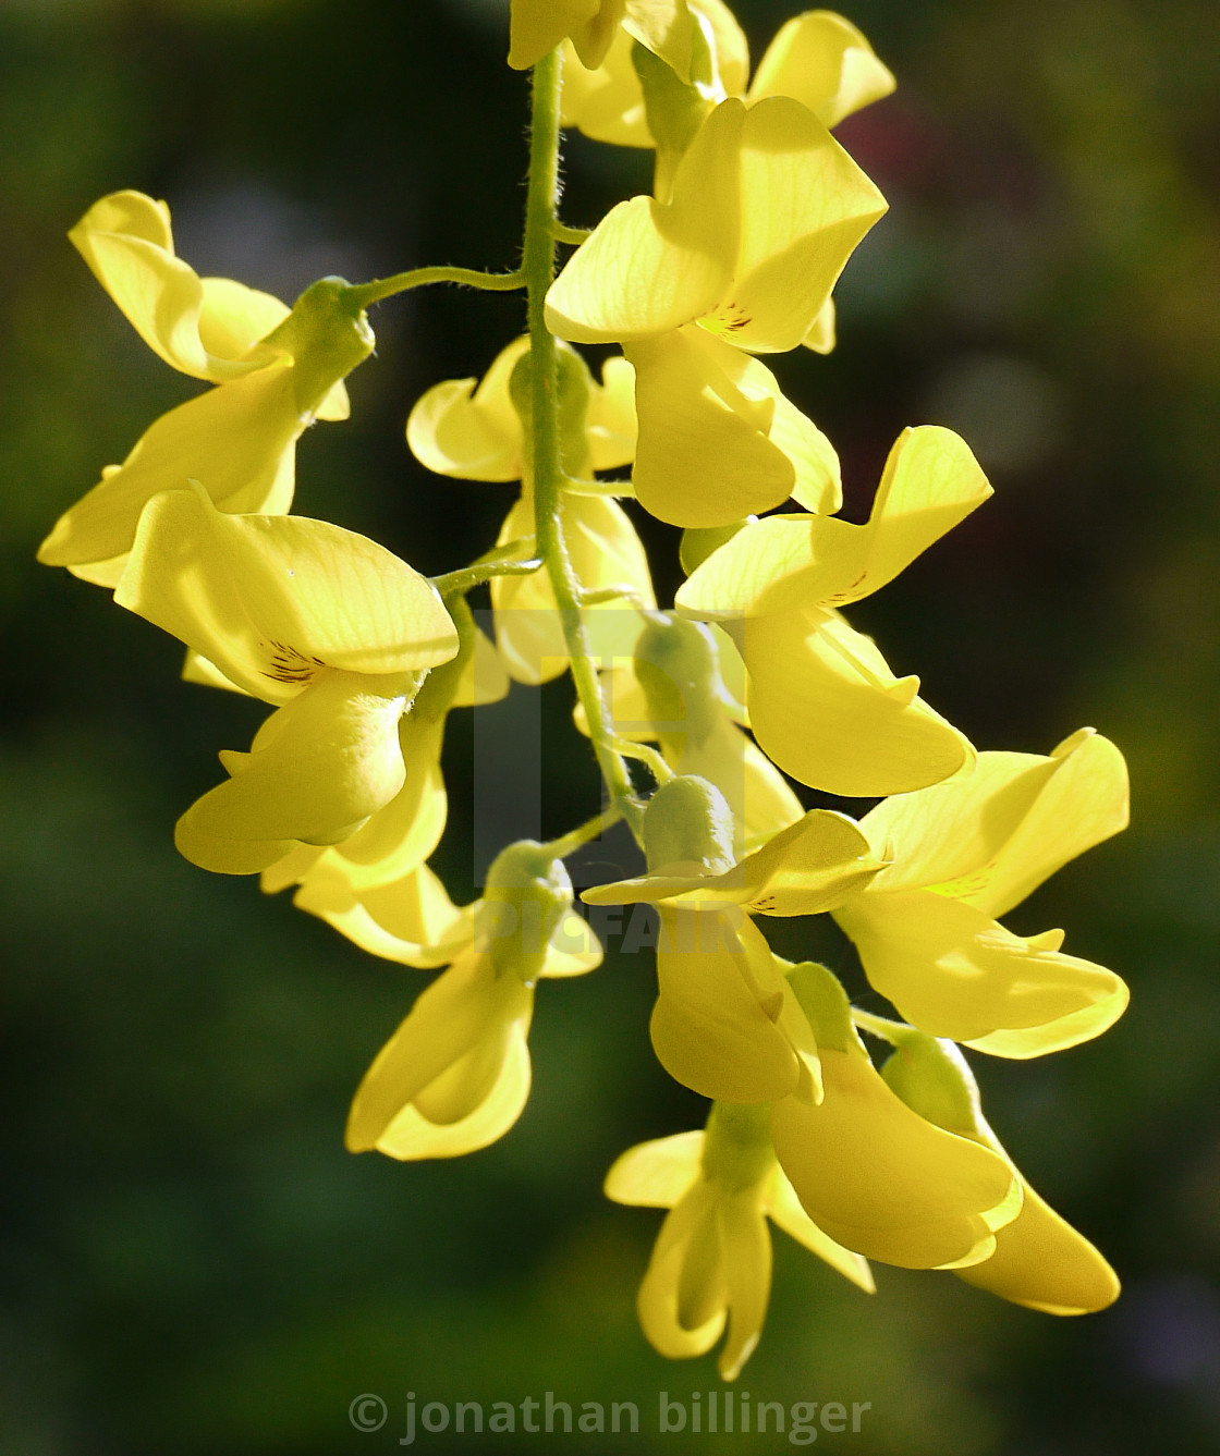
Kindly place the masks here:
<instances>
[{"instance_id":1,"label":"topmost open flower's petals, either side of its green calyx","mask_svg":"<svg viewBox=\"0 0 1220 1456\"><path fill-rule=\"evenodd\" d=\"M894 76L865 36L841 15L805 10L780 26L748 83L750 48L722 0L689 0L709 50L709 77L702 84L708 106L726 96L747 105L764 96L791 96L825 127L894 90ZM594 141L620 147L655 147L648 128L643 89L632 64L633 38L620 31L597 67L563 47L563 125L578 127Z\"/></svg>"}]
</instances>

